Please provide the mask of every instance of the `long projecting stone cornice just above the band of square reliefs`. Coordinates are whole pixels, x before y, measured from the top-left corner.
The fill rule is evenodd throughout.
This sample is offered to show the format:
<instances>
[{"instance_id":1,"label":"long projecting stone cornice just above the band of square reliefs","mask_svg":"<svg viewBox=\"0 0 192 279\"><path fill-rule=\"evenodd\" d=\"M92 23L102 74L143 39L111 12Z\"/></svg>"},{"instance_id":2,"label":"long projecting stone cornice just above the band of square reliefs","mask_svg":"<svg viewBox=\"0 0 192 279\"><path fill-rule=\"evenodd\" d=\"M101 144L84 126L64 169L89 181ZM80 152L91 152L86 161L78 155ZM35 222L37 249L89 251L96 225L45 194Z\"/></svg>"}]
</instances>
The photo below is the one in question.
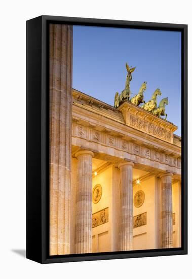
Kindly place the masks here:
<instances>
[{"instance_id":1,"label":"long projecting stone cornice just above the band of square reliefs","mask_svg":"<svg viewBox=\"0 0 192 279\"><path fill-rule=\"evenodd\" d=\"M181 148L178 145L162 141L159 138L153 137L150 134L134 129L123 123L117 123L113 119L98 115L76 103L73 103L72 106L72 119L73 123L76 122L79 126L82 126L82 129L84 129L83 127L92 128L96 134L94 137L103 137L101 134L108 134L111 142L118 142L119 140L117 139L121 139L122 142L157 150L157 152L160 151L166 155L172 155L175 158L181 156ZM82 131L82 135L83 133Z\"/></svg>"}]
</instances>

